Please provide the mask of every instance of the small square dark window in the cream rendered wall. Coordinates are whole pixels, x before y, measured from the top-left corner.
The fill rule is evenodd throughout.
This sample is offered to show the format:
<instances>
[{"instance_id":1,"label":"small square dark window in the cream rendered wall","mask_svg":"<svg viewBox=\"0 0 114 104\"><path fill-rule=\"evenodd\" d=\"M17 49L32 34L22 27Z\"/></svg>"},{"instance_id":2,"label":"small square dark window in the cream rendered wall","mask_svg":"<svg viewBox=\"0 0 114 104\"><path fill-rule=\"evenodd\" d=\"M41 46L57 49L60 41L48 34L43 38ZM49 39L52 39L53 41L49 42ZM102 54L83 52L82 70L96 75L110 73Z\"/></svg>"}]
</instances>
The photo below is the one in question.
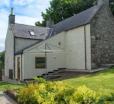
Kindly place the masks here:
<instances>
[{"instance_id":1,"label":"small square dark window in the cream rendered wall","mask_svg":"<svg viewBox=\"0 0 114 104\"><path fill-rule=\"evenodd\" d=\"M46 58L36 57L35 58L35 68L46 68Z\"/></svg>"}]
</instances>

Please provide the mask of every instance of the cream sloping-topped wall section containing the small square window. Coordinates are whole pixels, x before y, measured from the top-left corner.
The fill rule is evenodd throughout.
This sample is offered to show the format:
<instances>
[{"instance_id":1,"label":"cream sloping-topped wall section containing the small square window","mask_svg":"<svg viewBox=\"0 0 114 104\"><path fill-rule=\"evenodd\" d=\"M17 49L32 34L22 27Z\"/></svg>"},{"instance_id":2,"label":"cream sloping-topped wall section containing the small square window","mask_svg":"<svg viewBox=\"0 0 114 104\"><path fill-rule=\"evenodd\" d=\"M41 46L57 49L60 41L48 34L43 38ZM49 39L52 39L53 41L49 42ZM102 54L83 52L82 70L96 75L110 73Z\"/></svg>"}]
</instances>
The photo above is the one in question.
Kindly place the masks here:
<instances>
[{"instance_id":1,"label":"cream sloping-topped wall section containing the small square window","mask_svg":"<svg viewBox=\"0 0 114 104\"><path fill-rule=\"evenodd\" d=\"M25 50L23 54L24 79L33 78L46 72L57 70L58 68L65 68L64 39L63 32ZM59 42L61 45L58 44ZM45 57L45 43L47 45L47 68L35 69L35 57Z\"/></svg>"}]
</instances>

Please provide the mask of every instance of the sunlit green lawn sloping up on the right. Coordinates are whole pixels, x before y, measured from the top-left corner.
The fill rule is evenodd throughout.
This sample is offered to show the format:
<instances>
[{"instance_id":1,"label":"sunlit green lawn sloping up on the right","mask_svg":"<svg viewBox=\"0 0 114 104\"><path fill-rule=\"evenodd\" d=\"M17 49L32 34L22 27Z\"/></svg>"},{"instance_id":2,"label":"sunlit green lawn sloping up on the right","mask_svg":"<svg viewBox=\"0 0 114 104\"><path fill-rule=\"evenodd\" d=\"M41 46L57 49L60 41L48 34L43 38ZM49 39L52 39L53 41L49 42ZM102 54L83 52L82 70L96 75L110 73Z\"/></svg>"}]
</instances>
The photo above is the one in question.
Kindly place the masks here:
<instances>
[{"instance_id":1,"label":"sunlit green lawn sloping up on the right","mask_svg":"<svg viewBox=\"0 0 114 104\"><path fill-rule=\"evenodd\" d=\"M86 85L97 92L107 95L112 92L114 93L114 68L95 74L64 80L64 82L76 88Z\"/></svg>"}]
</instances>

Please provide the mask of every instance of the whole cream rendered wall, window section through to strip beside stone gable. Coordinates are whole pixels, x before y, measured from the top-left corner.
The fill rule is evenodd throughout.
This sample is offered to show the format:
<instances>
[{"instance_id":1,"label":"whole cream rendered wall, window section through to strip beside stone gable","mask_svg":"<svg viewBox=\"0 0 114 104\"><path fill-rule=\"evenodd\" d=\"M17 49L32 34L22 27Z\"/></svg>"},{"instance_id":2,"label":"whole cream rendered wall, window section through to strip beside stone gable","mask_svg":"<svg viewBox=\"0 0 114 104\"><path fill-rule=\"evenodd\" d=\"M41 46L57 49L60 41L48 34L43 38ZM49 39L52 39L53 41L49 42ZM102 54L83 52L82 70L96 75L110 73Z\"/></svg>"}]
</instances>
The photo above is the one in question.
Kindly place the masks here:
<instances>
[{"instance_id":1,"label":"whole cream rendered wall, window section through to strip beside stone gable","mask_svg":"<svg viewBox=\"0 0 114 104\"><path fill-rule=\"evenodd\" d=\"M84 35L85 34L85 35ZM85 37L86 36L86 37ZM86 40L86 41L85 41ZM58 43L61 43L59 45ZM86 63L85 63L86 42ZM45 56L47 50L47 68L35 69L35 57ZM33 78L58 68L91 70L90 25L62 32L56 36L26 49L23 54L23 78Z\"/></svg>"}]
</instances>

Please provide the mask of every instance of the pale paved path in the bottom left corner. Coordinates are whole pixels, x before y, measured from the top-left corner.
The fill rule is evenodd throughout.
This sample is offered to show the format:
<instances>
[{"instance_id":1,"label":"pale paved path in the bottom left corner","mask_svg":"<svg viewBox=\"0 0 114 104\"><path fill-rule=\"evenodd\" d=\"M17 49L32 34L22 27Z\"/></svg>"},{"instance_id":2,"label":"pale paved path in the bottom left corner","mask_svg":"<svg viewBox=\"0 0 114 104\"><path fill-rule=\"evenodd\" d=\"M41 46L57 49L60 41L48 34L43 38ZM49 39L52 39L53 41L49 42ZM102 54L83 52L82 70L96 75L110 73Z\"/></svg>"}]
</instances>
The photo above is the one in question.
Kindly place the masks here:
<instances>
[{"instance_id":1,"label":"pale paved path in the bottom left corner","mask_svg":"<svg viewBox=\"0 0 114 104\"><path fill-rule=\"evenodd\" d=\"M0 92L0 104L16 104L12 99L10 99L3 92Z\"/></svg>"}]
</instances>

